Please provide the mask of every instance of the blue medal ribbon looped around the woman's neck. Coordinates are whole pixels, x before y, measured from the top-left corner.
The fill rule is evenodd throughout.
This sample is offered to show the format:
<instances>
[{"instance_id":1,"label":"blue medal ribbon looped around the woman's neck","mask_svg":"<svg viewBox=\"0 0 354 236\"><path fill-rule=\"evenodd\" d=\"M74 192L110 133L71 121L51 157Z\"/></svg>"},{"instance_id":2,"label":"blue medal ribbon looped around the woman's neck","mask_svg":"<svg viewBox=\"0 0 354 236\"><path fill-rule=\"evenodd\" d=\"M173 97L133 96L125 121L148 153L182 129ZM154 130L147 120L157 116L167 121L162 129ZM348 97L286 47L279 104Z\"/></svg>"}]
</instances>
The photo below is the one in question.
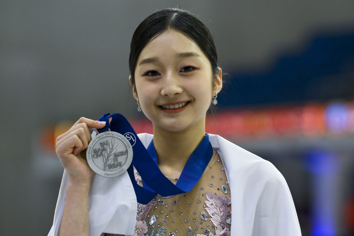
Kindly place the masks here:
<instances>
[{"instance_id":1,"label":"blue medal ribbon looped around the woman's neck","mask_svg":"<svg viewBox=\"0 0 354 236\"><path fill-rule=\"evenodd\" d=\"M109 117L112 117L111 123L109 123ZM205 137L188 159L179 180L174 185L162 174L158 167L154 140L151 141L146 149L134 129L122 114L106 113L98 120L106 122L104 128L97 130L99 133L111 130L124 136L127 133L135 136L135 138L131 138L131 136L129 136L130 139L128 138L133 149L133 159L127 172L134 187L137 201L141 204L148 204L157 194L170 196L192 190L202 176L213 154L209 136L205 134ZM133 166L142 177L143 187L135 180Z\"/></svg>"}]
</instances>

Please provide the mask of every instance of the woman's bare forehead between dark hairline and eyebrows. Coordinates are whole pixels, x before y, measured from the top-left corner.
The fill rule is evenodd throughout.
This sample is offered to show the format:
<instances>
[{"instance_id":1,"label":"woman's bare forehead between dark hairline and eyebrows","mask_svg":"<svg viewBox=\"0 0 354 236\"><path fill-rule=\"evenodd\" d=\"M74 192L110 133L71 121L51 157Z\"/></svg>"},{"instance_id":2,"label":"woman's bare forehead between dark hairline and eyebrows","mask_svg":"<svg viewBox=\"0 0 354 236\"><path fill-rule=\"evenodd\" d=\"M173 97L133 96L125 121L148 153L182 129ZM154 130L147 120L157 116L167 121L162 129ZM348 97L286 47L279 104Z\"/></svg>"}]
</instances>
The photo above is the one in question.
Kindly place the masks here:
<instances>
[{"instance_id":1,"label":"woman's bare forehead between dark hairline and eyebrows","mask_svg":"<svg viewBox=\"0 0 354 236\"><path fill-rule=\"evenodd\" d=\"M155 37L145 46L140 53L138 63L147 57L170 58L184 52L195 52L205 57L198 45L190 40L189 37L175 30L167 30Z\"/></svg>"}]
</instances>

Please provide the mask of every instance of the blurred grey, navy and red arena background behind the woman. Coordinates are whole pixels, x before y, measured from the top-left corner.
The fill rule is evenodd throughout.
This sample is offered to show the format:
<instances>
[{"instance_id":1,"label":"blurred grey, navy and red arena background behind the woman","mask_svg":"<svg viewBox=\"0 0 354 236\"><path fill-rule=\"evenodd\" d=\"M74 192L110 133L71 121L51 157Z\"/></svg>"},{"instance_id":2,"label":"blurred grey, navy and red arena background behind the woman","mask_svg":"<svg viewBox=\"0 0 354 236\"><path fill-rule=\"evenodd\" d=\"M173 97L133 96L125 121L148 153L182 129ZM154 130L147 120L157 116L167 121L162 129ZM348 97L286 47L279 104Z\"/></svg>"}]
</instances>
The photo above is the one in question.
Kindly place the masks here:
<instances>
[{"instance_id":1,"label":"blurred grey, navy and red arena background behind the woman","mask_svg":"<svg viewBox=\"0 0 354 236\"><path fill-rule=\"evenodd\" d=\"M354 235L354 1L0 2L0 234L47 235L63 167L55 139L81 116L152 132L128 83L132 33L189 10L224 75L207 132L271 161L302 235Z\"/></svg>"}]
</instances>

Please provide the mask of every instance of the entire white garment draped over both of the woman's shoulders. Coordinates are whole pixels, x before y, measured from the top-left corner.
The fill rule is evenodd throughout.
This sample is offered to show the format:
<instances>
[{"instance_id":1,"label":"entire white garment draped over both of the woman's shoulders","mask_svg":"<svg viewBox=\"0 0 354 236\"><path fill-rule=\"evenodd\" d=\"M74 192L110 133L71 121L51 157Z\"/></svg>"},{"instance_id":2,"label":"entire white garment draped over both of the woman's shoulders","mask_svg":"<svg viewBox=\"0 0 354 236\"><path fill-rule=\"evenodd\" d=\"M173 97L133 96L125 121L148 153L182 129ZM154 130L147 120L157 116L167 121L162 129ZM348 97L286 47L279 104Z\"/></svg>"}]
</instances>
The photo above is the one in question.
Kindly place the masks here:
<instances>
[{"instance_id":1,"label":"entire white garment draped over both of the woman's shoulders","mask_svg":"<svg viewBox=\"0 0 354 236\"><path fill-rule=\"evenodd\" d=\"M145 147L153 138L150 134L138 136ZM273 164L218 135L209 134L209 140L220 155L229 181L231 235L301 235L290 190ZM50 236L58 235L68 181L64 171ZM134 234L137 199L127 172L114 178L96 175L89 204L90 235Z\"/></svg>"}]
</instances>

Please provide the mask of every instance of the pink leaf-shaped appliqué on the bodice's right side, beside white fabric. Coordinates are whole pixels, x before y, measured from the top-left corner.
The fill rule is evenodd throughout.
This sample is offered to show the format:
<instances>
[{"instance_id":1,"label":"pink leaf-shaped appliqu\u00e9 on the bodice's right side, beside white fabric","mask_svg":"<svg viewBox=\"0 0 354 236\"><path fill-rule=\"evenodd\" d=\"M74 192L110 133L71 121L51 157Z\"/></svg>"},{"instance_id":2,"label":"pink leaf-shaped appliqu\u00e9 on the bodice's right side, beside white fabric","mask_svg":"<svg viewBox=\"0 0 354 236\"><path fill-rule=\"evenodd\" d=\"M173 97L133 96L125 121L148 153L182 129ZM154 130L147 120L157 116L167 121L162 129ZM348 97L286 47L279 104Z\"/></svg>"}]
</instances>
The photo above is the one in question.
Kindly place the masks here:
<instances>
[{"instance_id":1,"label":"pink leaf-shaped appliqu\u00e9 on the bodice's right side, beside white fabric","mask_svg":"<svg viewBox=\"0 0 354 236\"><path fill-rule=\"evenodd\" d=\"M226 228L226 218L231 215L228 211L228 206L231 204L231 199L223 198L222 195L215 196L210 192L206 192L205 210L211 216L211 221L217 228L221 226Z\"/></svg>"}]
</instances>

